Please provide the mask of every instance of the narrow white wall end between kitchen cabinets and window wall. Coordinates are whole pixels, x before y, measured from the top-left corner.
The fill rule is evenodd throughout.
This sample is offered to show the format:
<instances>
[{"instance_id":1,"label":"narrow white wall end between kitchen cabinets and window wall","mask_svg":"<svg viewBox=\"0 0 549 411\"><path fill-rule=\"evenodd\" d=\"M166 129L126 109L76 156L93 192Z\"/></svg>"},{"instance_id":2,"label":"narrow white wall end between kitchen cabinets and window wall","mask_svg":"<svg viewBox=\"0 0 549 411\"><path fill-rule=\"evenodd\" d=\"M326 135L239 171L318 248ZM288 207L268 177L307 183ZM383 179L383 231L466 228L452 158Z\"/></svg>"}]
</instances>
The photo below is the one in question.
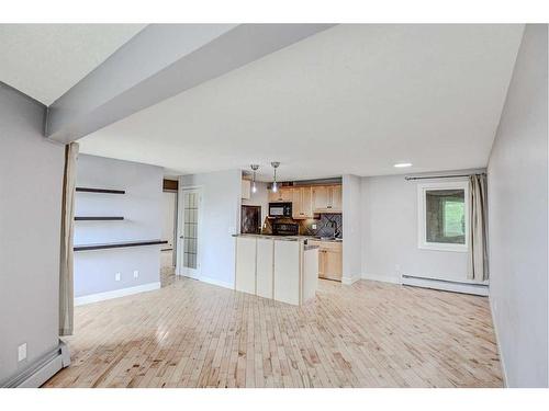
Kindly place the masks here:
<instances>
[{"instance_id":1,"label":"narrow white wall end between kitchen cabinets and window wall","mask_svg":"<svg viewBox=\"0 0 549 411\"><path fill-rule=\"evenodd\" d=\"M358 175L343 176L343 283L362 276L362 195Z\"/></svg>"}]
</instances>

